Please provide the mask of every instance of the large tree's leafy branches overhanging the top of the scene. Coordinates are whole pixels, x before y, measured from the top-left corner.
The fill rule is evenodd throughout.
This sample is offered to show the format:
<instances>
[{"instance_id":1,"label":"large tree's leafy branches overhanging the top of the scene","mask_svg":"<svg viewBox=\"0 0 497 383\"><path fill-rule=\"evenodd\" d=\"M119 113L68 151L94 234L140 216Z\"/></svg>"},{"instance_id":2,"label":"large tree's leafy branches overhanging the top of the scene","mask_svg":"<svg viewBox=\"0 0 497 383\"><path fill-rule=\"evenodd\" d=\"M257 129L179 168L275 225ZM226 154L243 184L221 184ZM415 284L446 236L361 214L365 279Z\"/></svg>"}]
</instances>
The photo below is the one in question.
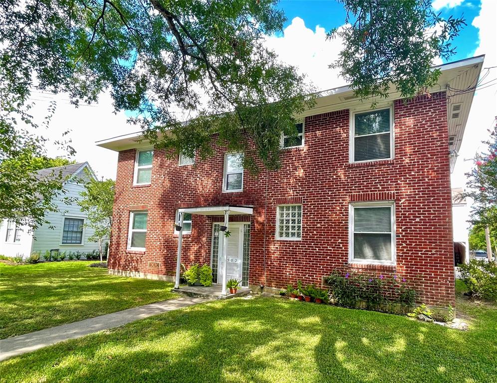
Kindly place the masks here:
<instances>
[{"instance_id":1,"label":"large tree's leafy branches overhanging the top of the scene","mask_svg":"<svg viewBox=\"0 0 497 383\"><path fill-rule=\"evenodd\" d=\"M361 97L385 96L391 81L405 97L424 91L463 23L442 20L429 0L341 2L350 26L336 31L345 38L337 65ZM313 88L264 47L285 22L276 5L0 0L0 123L14 130L32 89L67 92L75 105L109 90L115 109L135 111L130 121L171 155L206 158L218 142L251 171L277 169L280 135L296 135Z\"/></svg>"}]
</instances>

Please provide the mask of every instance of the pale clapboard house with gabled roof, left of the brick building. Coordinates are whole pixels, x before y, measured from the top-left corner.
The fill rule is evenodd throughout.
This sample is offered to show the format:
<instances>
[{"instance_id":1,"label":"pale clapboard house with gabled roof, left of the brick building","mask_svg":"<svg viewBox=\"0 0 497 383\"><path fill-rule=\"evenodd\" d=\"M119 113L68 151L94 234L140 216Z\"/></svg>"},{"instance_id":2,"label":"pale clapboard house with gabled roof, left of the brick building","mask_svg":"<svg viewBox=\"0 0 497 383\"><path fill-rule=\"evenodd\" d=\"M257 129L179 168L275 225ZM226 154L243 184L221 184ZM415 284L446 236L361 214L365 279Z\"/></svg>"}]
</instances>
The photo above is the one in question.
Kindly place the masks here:
<instances>
[{"instance_id":1,"label":"pale clapboard house with gabled roof, left of the brick building","mask_svg":"<svg viewBox=\"0 0 497 383\"><path fill-rule=\"evenodd\" d=\"M90 176L85 169L89 170ZM62 172L65 193L58 193L52 201L59 211L47 211L44 224L34 230L28 226L17 226L15 223L4 220L0 225L0 254L13 257L17 254L24 257L33 251L44 253L46 250L90 252L98 250L97 242L89 242L88 237L93 230L85 227L85 215L76 203L67 203L64 198L81 198L80 192L85 190L84 181L88 177L95 178L87 162L39 170L39 177L50 177L53 173ZM82 181L82 182L78 182ZM53 226L53 228L51 227Z\"/></svg>"}]
</instances>

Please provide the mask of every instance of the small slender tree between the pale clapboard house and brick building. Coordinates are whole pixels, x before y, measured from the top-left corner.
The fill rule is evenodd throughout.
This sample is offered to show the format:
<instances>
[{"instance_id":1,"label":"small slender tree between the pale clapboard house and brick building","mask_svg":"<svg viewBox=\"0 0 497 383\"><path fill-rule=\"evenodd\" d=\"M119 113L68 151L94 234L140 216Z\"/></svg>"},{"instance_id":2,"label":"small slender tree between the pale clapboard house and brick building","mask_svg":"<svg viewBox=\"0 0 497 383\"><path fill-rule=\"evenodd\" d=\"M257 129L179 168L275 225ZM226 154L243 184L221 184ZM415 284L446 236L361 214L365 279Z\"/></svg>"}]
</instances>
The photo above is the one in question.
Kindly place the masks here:
<instances>
[{"instance_id":1,"label":"small slender tree between the pale clapboard house and brick building","mask_svg":"<svg viewBox=\"0 0 497 383\"><path fill-rule=\"evenodd\" d=\"M85 185L85 191L81 192L83 199L77 203L81 211L87 214L86 226L94 230L88 239L97 242L100 248L100 263L102 263L102 241L108 239L110 242L110 229L112 226L112 207L114 205L113 180L97 181L90 178ZM110 246L109 246L110 247ZM107 258L109 256L107 247Z\"/></svg>"}]
</instances>

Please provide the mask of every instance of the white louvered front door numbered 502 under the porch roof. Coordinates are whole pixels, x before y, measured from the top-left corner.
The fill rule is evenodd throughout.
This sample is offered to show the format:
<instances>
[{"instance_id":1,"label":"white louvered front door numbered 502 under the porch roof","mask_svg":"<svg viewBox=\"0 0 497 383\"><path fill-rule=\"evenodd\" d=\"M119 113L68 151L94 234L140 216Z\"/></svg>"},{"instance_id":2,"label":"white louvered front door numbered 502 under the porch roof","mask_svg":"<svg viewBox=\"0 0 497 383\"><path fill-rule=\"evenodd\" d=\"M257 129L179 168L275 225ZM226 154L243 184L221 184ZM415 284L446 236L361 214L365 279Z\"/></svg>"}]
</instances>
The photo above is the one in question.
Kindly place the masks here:
<instances>
[{"instance_id":1,"label":"white louvered front door numbered 502 under the porch roof","mask_svg":"<svg viewBox=\"0 0 497 383\"><path fill-rule=\"evenodd\" d=\"M244 245L244 224L243 223L230 223L228 225L228 230L231 235L226 238L226 257L228 262L226 263L226 280L236 279L237 281L242 280L242 265L243 265L243 245ZM219 232L219 254L218 254L218 283L223 283L223 266L224 266L224 256L223 256L223 241L224 232Z\"/></svg>"}]
</instances>

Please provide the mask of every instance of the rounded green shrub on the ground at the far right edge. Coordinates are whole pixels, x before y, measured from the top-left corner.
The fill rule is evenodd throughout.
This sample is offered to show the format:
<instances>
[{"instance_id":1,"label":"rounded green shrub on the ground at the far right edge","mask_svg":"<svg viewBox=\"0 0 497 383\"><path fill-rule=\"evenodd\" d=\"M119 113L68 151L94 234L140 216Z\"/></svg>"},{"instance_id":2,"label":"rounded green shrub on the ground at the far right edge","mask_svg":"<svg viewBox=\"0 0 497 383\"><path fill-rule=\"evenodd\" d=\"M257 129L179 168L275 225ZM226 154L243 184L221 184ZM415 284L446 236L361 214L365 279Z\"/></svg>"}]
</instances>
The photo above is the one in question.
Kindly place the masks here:
<instances>
[{"instance_id":1,"label":"rounded green shrub on the ground at the far right edge","mask_svg":"<svg viewBox=\"0 0 497 383\"><path fill-rule=\"evenodd\" d=\"M472 259L459 266L461 280L469 295L497 302L497 265L483 259Z\"/></svg>"}]
</instances>

